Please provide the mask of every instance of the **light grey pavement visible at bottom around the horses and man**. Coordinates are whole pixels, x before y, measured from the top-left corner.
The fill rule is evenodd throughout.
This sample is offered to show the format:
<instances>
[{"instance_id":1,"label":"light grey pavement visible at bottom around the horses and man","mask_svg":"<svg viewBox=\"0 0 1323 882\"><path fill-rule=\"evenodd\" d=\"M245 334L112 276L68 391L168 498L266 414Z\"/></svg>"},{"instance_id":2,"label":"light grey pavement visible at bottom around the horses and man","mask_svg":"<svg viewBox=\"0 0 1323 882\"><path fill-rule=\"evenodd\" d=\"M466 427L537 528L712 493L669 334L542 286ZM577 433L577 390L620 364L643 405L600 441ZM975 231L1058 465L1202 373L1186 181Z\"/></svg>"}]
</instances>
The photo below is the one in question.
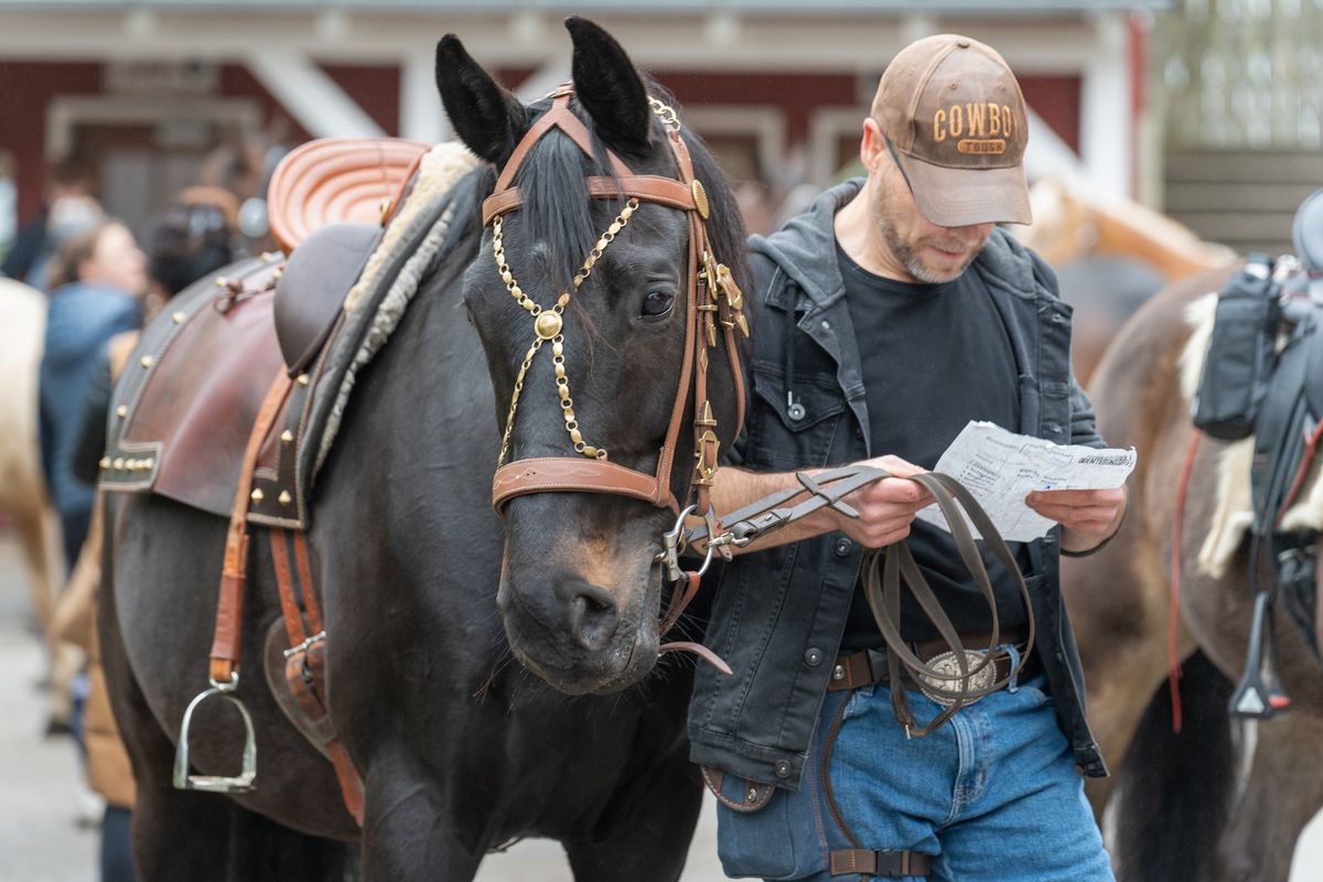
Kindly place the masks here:
<instances>
[{"instance_id":1,"label":"light grey pavement visible at bottom around the horses and man","mask_svg":"<svg viewBox=\"0 0 1323 882\"><path fill-rule=\"evenodd\" d=\"M86 796L69 738L45 738L46 706L37 688L42 652L32 627L17 546L0 530L0 882L94 882L95 829L79 825ZM725 879L717 862L709 797L681 882ZM573 882L565 852L549 840L492 854L476 882ZM1323 882L1323 816L1306 828L1290 882Z\"/></svg>"}]
</instances>

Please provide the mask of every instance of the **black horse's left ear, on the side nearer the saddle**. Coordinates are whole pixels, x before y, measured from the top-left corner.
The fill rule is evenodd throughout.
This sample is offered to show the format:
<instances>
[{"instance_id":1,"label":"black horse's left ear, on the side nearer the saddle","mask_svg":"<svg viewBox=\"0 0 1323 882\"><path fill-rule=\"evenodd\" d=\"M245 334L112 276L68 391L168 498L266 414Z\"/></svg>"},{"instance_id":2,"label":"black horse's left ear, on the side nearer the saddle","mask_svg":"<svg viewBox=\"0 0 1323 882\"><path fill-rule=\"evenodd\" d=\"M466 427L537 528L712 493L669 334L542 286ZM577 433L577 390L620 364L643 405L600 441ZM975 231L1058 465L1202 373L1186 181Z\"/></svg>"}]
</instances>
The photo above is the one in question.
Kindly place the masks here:
<instances>
[{"instance_id":1,"label":"black horse's left ear, on the side nearer the saddle","mask_svg":"<svg viewBox=\"0 0 1323 882\"><path fill-rule=\"evenodd\" d=\"M528 123L528 111L452 33L437 44L437 89L459 140L488 163L504 165Z\"/></svg>"}]
</instances>

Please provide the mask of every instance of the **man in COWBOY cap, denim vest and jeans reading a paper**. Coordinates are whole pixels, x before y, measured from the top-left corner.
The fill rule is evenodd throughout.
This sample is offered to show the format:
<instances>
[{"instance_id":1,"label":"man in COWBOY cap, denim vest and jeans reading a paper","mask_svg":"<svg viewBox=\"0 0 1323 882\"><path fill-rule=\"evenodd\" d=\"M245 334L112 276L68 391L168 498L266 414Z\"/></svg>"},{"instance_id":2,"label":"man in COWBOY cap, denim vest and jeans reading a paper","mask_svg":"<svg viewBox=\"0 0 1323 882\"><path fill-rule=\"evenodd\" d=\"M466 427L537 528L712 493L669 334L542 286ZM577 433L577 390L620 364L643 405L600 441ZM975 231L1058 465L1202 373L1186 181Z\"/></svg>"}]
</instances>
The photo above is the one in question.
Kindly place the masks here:
<instances>
[{"instance_id":1,"label":"man in COWBOY cap, denim vest and jeans reading a paper","mask_svg":"<svg viewBox=\"0 0 1323 882\"><path fill-rule=\"evenodd\" d=\"M847 497L857 520L822 509L722 577L708 645L736 673L700 669L689 734L718 793L730 875L1111 878L1080 776L1106 768L1084 718L1058 554L1101 546L1125 492L1029 496L1060 524L1011 545L1032 610L980 545L999 676L1024 668L927 737L897 722L886 641L860 588L865 551L908 541L962 643L987 647L991 610L951 536L914 522L931 500L904 476L933 468L971 419L1103 446L1070 374L1070 311L1052 271L994 227L1029 222L1025 138L996 52L921 40L886 69L864 120L867 179L753 239L750 415L717 473L717 509L798 487L795 469L867 461L897 477ZM921 659L946 648L908 592L900 628ZM902 681L918 726L933 722L943 707Z\"/></svg>"}]
</instances>

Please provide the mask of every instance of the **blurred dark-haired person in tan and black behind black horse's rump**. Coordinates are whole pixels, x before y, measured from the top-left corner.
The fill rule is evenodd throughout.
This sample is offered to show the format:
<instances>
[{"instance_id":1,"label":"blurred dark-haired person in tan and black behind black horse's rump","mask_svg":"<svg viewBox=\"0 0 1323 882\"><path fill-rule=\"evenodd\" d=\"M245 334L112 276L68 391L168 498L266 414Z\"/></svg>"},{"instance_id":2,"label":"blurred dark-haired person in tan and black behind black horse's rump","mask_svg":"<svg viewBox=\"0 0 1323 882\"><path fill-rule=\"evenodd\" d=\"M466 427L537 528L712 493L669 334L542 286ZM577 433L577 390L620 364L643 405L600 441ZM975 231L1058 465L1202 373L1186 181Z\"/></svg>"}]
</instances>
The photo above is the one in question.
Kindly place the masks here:
<instances>
[{"instance_id":1,"label":"blurred dark-haired person in tan and black behind black horse's rump","mask_svg":"<svg viewBox=\"0 0 1323 882\"><path fill-rule=\"evenodd\" d=\"M153 218L147 234L149 267L147 317L197 279L233 262L238 201L218 188L194 186ZM93 368L82 402L70 469L77 480L95 484L98 463L106 448L106 418L115 380L138 345L139 332L124 331L108 340ZM73 643L86 652L86 703L83 743L87 756L87 783L106 800L102 817L101 882L134 882L130 825L136 796L134 771L119 738L106 693L97 639L97 594L101 590L102 506L93 509L87 541L56 608L53 637Z\"/></svg>"}]
</instances>

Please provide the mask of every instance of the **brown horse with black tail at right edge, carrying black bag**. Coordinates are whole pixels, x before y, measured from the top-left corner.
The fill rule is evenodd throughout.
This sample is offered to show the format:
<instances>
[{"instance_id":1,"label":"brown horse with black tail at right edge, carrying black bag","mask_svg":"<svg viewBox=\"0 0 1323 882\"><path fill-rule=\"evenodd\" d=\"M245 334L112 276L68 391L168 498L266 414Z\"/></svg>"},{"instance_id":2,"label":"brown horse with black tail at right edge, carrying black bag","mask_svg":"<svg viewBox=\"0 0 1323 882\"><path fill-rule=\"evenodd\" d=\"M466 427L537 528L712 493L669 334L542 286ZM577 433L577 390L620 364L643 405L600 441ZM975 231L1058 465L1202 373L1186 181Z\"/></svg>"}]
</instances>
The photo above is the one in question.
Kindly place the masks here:
<instances>
[{"instance_id":1,"label":"brown horse with black tail at right edge, carrying black bag","mask_svg":"<svg viewBox=\"0 0 1323 882\"><path fill-rule=\"evenodd\" d=\"M1302 828L1323 807L1323 672L1281 603L1275 632L1291 707L1259 722L1253 739L1228 715L1250 633L1249 543L1233 546L1218 575L1200 563L1221 517L1226 444L1200 439L1179 541L1174 532L1195 431L1181 390L1188 307L1228 276L1226 270L1199 274L1150 300L1107 350L1091 387L1102 435L1139 451L1126 524L1097 555L1062 569L1090 721L1115 774L1097 782L1090 797L1101 819L1121 785L1114 856L1126 882L1285 881ZM1248 468L1237 480L1249 481ZM1184 666L1179 734L1166 689L1170 640Z\"/></svg>"}]
</instances>

